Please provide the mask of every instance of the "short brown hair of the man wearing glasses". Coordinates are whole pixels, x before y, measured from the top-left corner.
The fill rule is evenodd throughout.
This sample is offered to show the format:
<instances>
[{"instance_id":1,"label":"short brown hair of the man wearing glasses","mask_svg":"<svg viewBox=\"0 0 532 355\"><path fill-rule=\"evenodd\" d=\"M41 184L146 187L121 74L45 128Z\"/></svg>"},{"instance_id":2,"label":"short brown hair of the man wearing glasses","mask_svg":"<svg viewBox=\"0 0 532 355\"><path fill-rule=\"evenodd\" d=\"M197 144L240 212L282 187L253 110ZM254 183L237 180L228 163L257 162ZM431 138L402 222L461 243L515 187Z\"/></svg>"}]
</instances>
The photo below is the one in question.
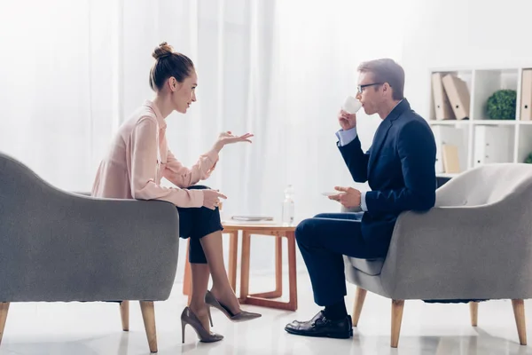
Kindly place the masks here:
<instances>
[{"instance_id":1,"label":"short brown hair of the man wearing glasses","mask_svg":"<svg viewBox=\"0 0 532 355\"><path fill-rule=\"evenodd\" d=\"M375 59L360 64L361 73L372 73L375 83L388 83L392 87L392 98L404 98L404 70L393 59Z\"/></svg>"}]
</instances>

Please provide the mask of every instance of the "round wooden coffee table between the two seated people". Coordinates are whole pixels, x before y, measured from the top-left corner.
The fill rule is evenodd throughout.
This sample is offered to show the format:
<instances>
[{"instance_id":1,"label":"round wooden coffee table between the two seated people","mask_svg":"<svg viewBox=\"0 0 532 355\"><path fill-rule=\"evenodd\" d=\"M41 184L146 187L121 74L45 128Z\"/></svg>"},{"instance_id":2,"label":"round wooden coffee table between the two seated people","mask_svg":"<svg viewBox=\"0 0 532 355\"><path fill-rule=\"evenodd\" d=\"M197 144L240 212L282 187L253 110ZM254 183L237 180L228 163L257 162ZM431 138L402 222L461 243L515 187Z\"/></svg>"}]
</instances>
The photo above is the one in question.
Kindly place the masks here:
<instances>
[{"instance_id":1,"label":"round wooden coffee table between the two seated people","mask_svg":"<svg viewBox=\"0 0 532 355\"><path fill-rule=\"evenodd\" d=\"M223 222L223 234L230 234L229 270L228 278L231 287L236 292L237 286L237 256L239 247L239 233L242 235L241 264L240 264L240 304L253 304L263 307L277 308L288 311L297 310L297 276L295 265L295 226L279 224L256 224ZM251 257L251 236L269 235L275 238L275 284L273 291L259 294L249 294L249 261ZM288 245L288 302L274 300L283 296L283 243L286 238ZM184 295L191 295L190 264L188 263L188 248L184 272Z\"/></svg>"}]
</instances>

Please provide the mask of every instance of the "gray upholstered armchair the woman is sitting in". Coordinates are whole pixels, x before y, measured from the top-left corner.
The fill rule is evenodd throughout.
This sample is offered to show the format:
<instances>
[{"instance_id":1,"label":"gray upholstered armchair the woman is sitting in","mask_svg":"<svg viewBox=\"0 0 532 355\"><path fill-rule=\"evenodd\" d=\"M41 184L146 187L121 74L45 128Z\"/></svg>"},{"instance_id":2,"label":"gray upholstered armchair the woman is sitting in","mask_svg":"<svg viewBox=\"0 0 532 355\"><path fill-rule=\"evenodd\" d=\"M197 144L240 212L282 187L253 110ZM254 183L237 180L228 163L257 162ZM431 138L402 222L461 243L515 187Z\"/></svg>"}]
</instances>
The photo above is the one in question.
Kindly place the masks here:
<instances>
[{"instance_id":1,"label":"gray upholstered armchair the woman is sitting in","mask_svg":"<svg viewBox=\"0 0 532 355\"><path fill-rule=\"evenodd\" d=\"M150 351L153 301L176 277L178 215L164 201L96 199L60 191L0 154L0 342L12 302L139 300Z\"/></svg>"}]
</instances>

